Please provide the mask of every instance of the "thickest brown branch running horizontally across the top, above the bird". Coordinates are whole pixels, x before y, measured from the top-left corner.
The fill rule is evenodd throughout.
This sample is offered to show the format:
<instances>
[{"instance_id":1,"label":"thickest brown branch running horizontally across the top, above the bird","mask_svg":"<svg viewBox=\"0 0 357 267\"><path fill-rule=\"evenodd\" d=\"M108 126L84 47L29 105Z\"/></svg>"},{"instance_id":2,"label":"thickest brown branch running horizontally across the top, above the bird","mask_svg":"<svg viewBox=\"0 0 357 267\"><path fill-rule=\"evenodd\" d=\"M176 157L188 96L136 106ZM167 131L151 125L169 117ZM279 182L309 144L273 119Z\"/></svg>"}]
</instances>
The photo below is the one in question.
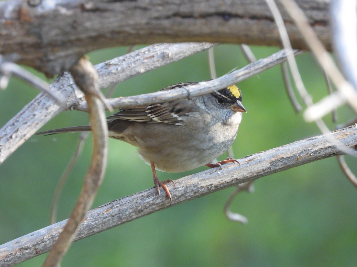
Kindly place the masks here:
<instances>
[{"instance_id":1,"label":"thickest brown branch running horizontally across the top, above the bird","mask_svg":"<svg viewBox=\"0 0 357 267\"><path fill-rule=\"evenodd\" d=\"M48 74L66 70L82 54L120 45L224 42L280 46L275 22L261 0L42 0L0 2L0 54ZM33 1L32 1L33 2ZM297 0L310 25L331 48L327 1ZM306 48L281 9L292 47Z\"/></svg>"}]
</instances>

